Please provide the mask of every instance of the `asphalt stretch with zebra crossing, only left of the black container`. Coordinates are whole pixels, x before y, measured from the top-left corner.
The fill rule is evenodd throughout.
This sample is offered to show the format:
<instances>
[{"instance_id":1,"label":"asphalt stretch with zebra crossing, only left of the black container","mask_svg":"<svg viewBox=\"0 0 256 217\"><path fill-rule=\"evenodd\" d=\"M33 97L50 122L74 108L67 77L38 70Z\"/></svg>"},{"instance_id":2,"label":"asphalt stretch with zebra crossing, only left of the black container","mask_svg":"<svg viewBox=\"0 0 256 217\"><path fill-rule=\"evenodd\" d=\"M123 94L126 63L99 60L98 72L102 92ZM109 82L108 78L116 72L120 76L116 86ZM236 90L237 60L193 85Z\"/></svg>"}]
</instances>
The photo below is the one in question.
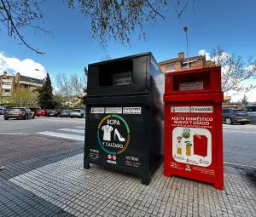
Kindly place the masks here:
<instances>
[{"instance_id":1,"label":"asphalt stretch with zebra crossing, only left of the black container","mask_svg":"<svg viewBox=\"0 0 256 217\"><path fill-rule=\"evenodd\" d=\"M85 120L79 118L35 117L5 121L0 116L0 166L55 151L82 149L84 125ZM57 136L49 135L53 132Z\"/></svg>"}]
</instances>

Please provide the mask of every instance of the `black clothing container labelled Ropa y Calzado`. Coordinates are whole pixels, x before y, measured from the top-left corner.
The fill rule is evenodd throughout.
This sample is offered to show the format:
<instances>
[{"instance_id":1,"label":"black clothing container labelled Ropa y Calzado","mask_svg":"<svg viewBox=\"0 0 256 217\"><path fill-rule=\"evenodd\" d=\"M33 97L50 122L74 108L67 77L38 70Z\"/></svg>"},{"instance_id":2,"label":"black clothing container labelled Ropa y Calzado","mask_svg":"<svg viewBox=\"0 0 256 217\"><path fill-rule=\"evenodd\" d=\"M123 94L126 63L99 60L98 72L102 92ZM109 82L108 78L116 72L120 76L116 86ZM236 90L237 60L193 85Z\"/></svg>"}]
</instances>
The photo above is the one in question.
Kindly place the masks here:
<instances>
[{"instance_id":1,"label":"black clothing container labelled Ropa y Calzado","mask_svg":"<svg viewBox=\"0 0 256 217\"><path fill-rule=\"evenodd\" d=\"M163 155L163 77L151 53L88 66L84 168L93 163L149 184Z\"/></svg>"}]
</instances>

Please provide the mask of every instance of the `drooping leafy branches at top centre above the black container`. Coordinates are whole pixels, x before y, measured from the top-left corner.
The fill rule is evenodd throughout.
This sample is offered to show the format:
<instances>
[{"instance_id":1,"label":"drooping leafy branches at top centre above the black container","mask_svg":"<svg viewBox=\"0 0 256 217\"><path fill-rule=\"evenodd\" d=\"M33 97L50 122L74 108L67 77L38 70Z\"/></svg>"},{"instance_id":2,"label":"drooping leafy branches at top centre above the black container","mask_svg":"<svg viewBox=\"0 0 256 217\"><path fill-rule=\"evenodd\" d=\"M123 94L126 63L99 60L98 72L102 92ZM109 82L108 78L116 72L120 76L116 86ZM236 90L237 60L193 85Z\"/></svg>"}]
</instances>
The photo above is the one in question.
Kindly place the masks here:
<instances>
[{"instance_id":1,"label":"drooping leafy branches at top centre above the black container","mask_svg":"<svg viewBox=\"0 0 256 217\"><path fill-rule=\"evenodd\" d=\"M67 0L70 8L79 7L81 12L90 17L91 36L106 44L109 38L121 43L129 43L131 33L139 27L144 37L143 24L152 24L166 5L166 0Z\"/></svg>"}]
</instances>

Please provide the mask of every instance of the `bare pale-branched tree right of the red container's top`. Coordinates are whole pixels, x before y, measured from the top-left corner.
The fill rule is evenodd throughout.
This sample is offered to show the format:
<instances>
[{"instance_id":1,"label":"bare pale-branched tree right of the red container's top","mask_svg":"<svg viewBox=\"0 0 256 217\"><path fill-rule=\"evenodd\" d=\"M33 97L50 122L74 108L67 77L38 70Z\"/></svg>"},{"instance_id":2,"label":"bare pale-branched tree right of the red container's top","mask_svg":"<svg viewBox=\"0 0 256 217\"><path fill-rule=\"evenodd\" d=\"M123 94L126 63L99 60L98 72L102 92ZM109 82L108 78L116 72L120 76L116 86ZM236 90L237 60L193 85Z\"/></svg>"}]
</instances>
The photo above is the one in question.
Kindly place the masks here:
<instances>
[{"instance_id":1,"label":"bare pale-branched tree right of the red container's top","mask_svg":"<svg viewBox=\"0 0 256 217\"><path fill-rule=\"evenodd\" d=\"M254 89L253 85L243 83L247 79L256 78L256 59L248 58L245 63L241 56L229 54L220 46L212 51L212 60L216 66L221 66L222 89L224 92L230 90L249 91Z\"/></svg>"}]
</instances>

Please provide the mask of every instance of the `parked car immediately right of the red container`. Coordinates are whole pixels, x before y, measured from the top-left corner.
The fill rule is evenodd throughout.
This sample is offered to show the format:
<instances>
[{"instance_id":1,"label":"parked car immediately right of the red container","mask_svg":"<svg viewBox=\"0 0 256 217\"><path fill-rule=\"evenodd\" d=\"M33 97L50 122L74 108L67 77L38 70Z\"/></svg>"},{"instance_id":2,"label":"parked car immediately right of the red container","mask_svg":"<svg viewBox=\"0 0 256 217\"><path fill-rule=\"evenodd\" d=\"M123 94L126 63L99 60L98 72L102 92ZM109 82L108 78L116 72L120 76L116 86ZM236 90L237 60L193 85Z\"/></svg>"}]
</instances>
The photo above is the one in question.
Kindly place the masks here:
<instances>
[{"instance_id":1,"label":"parked car immediately right of the red container","mask_svg":"<svg viewBox=\"0 0 256 217\"><path fill-rule=\"evenodd\" d=\"M222 122L226 124L241 123L246 124L250 122L247 111L243 109L222 109Z\"/></svg>"}]
</instances>

